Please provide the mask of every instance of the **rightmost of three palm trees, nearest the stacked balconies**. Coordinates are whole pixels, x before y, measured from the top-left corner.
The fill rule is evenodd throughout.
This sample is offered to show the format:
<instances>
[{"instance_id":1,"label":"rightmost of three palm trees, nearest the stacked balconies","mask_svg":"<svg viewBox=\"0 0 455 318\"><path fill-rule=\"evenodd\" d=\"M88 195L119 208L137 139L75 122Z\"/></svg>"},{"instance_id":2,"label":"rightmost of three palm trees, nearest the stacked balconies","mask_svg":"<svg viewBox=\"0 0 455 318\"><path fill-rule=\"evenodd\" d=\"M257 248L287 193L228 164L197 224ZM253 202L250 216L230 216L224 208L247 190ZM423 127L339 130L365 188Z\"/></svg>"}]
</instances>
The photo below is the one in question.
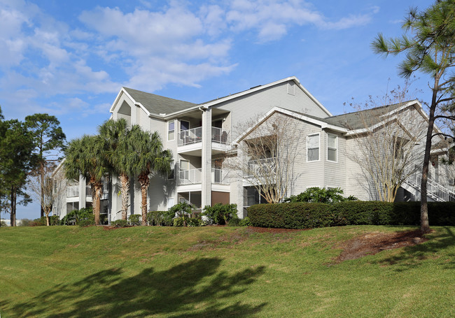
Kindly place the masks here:
<instances>
[{"instance_id":1,"label":"rightmost of three palm trees, nearest the stacked balconies","mask_svg":"<svg viewBox=\"0 0 455 318\"><path fill-rule=\"evenodd\" d=\"M142 225L146 225L147 191L151 173L169 173L171 170L172 152L162 150L162 142L157 131L143 131L139 125L131 127L131 143L134 148L134 175L138 176L141 185Z\"/></svg>"}]
</instances>

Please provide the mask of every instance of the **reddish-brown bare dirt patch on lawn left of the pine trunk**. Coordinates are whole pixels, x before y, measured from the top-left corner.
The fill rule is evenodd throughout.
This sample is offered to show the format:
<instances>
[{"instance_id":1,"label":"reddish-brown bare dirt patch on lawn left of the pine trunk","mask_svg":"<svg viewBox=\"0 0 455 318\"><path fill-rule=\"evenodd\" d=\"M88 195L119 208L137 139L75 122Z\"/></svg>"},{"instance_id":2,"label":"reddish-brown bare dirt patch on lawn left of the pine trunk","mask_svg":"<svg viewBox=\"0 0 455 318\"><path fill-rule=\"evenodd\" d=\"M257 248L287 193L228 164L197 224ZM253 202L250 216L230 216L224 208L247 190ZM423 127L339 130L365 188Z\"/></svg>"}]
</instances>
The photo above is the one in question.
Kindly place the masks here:
<instances>
[{"instance_id":1,"label":"reddish-brown bare dirt patch on lawn left of the pine trunk","mask_svg":"<svg viewBox=\"0 0 455 318\"><path fill-rule=\"evenodd\" d=\"M341 263L348 259L359 259L365 255L374 255L384 250L392 250L403 246L414 246L426 242L421 231L402 231L392 233L373 232L351 238L337 246L342 248L341 254L335 259L335 263Z\"/></svg>"}]
</instances>

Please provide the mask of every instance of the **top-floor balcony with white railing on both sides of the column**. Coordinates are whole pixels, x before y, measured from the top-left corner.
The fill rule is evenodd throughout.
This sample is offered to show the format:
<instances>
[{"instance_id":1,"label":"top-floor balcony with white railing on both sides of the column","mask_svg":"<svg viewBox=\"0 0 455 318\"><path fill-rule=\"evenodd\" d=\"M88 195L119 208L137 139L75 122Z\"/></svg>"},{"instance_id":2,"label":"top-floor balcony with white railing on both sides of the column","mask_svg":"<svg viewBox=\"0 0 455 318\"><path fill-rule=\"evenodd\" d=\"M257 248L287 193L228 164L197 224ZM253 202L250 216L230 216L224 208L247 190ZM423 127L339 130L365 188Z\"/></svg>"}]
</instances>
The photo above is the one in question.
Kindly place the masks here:
<instances>
[{"instance_id":1,"label":"top-floor balcony with white railing on both sides of the column","mask_svg":"<svg viewBox=\"0 0 455 318\"><path fill-rule=\"evenodd\" d=\"M202 127L182 130L178 138L178 152L201 156L202 154ZM230 133L218 127L211 127L211 150L213 154L228 150Z\"/></svg>"}]
</instances>

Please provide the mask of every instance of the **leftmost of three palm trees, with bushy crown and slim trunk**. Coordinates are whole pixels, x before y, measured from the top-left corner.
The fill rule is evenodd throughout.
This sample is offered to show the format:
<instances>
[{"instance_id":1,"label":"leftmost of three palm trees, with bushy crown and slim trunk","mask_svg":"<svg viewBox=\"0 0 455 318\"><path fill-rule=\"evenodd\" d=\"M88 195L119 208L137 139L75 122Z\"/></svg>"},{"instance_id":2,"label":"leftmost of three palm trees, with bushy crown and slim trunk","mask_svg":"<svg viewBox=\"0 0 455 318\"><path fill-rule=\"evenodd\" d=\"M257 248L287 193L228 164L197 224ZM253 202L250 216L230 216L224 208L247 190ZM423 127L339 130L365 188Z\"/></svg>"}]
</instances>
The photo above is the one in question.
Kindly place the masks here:
<instances>
[{"instance_id":1,"label":"leftmost of three palm trees, with bushy crown and slim trunk","mask_svg":"<svg viewBox=\"0 0 455 318\"><path fill-rule=\"evenodd\" d=\"M94 223L99 225L102 178L109 171L101 138L84 135L71 140L65 150L65 157L63 165L66 178L78 180L83 175L92 188Z\"/></svg>"}]
</instances>

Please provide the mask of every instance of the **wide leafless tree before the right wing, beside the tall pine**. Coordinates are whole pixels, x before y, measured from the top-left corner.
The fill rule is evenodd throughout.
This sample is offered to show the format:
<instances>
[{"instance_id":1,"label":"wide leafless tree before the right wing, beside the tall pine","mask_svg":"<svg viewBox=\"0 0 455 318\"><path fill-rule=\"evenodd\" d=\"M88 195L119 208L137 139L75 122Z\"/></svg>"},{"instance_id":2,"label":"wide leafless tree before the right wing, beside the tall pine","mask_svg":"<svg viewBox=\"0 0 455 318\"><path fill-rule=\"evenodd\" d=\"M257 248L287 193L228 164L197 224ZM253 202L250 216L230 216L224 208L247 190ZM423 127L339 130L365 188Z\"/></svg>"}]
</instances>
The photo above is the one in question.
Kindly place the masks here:
<instances>
[{"instance_id":1,"label":"wide leafless tree before the right wing, beside the tall pine","mask_svg":"<svg viewBox=\"0 0 455 318\"><path fill-rule=\"evenodd\" d=\"M358 181L379 201L395 201L398 189L422 166L428 123L421 107L407 101L407 92L398 87L382 99L370 97L355 106L357 118L346 123L352 138L346 157L360 166Z\"/></svg>"}]
</instances>

